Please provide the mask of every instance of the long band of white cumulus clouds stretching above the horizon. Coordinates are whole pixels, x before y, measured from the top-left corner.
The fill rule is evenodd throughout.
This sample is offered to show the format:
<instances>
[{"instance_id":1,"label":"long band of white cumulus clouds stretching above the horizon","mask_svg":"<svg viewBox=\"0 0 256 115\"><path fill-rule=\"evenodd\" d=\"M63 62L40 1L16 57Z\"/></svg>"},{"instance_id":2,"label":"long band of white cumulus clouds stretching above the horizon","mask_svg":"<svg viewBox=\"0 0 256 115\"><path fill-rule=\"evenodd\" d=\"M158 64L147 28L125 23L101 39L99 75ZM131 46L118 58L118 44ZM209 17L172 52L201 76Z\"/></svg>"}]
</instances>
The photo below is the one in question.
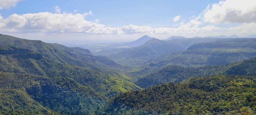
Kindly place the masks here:
<instances>
[{"instance_id":1,"label":"long band of white cumulus clouds stretching above the horizon","mask_svg":"<svg viewBox=\"0 0 256 115\"><path fill-rule=\"evenodd\" d=\"M0 15L0 32L4 33L65 33L65 34L200 34L206 31L229 30L242 33L256 33L256 24L243 24L233 28L219 28L215 25L199 27L198 17L189 22L181 22L177 28L152 28L150 26L128 25L123 27L107 27L98 24L99 20L87 21L85 17L92 15L89 11L84 14L68 13L35 13L13 14L6 19ZM246 29L247 28L247 29Z\"/></svg>"}]
</instances>

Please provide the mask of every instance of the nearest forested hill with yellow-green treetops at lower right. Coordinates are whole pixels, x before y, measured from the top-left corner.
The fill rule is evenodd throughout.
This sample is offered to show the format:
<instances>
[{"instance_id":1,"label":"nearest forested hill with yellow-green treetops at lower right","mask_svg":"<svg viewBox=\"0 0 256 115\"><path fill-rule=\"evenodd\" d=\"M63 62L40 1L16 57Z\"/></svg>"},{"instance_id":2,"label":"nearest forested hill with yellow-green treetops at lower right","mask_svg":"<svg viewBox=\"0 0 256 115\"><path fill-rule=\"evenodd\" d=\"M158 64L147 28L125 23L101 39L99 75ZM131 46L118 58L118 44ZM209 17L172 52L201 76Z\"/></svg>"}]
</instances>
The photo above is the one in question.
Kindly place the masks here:
<instances>
[{"instance_id":1,"label":"nearest forested hill with yellow-green treetops at lower right","mask_svg":"<svg viewBox=\"0 0 256 115\"><path fill-rule=\"evenodd\" d=\"M255 76L191 78L121 94L97 113L104 115L256 114Z\"/></svg>"}]
</instances>

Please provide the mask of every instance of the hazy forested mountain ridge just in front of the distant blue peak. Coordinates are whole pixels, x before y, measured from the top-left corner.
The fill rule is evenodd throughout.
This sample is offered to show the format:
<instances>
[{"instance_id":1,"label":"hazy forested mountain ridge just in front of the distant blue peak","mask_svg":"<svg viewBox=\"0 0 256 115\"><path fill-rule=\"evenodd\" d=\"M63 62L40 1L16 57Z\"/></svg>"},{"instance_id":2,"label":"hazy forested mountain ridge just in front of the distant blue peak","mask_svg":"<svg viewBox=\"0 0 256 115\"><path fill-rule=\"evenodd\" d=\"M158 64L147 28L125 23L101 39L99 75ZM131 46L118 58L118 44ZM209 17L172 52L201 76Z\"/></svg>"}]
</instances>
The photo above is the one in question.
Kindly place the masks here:
<instances>
[{"instance_id":1,"label":"hazy forested mountain ridge just in front of the distant blue peak","mask_svg":"<svg viewBox=\"0 0 256 115\"><path fill-rule=\"evenodd\" d=\"M152 61L161 55L167 55L173 52L185 50L194 44L236 39L242 38L187 38L172 39L168 41L152 39L139 47L109 55L108 57L123 65L137 66Z\"/></svg>"}]
</instances>

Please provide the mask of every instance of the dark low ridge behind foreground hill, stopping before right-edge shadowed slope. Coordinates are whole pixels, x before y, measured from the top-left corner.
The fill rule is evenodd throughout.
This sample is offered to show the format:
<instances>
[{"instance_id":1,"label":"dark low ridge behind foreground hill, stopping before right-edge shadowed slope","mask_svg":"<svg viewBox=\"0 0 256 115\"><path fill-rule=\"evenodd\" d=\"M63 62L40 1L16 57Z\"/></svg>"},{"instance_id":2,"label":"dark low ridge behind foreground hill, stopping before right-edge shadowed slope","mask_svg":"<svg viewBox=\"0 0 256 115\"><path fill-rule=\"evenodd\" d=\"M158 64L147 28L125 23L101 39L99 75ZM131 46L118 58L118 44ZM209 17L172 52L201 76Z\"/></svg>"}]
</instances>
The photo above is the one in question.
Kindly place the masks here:
<instances>
[{"instance_id":1,"label":"dark low ridge behind foreground hill, stopping before right-edge shadowed slope","mask_svg":"<svg viewBox=\"0 0 256 115\"><path fill-rule=\"evenodd\" d=\"M163 84L168 82L182 82L190 77L203 77L214 74L223 74L224 66L202 66L196 68L167 65L157 72L147 74L134 82L134 84L141 88L148 88L156 84Z\"/></svg>"}]
</instances>

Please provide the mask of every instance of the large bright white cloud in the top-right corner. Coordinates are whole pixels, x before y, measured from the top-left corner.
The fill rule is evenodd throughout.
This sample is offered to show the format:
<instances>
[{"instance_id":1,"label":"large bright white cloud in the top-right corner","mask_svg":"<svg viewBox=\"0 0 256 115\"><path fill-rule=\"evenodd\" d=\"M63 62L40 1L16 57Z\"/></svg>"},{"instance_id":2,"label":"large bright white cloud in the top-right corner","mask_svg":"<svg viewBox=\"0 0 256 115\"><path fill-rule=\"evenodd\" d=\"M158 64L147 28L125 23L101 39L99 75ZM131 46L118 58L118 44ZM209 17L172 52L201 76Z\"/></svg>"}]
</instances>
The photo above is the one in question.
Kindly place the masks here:
<instances>
[{"instance_id":1,"label":"large bright white cloud in the top-right corner","mask_svg":"<svg viewBox=\"0 0 256 115\"><path fill-rule=\"evenodd\" d=\"M212 4L204 11L204 21L213 24L226 22L255 22L256 0L226 0Z\"/></svg>"}]
</instances>

